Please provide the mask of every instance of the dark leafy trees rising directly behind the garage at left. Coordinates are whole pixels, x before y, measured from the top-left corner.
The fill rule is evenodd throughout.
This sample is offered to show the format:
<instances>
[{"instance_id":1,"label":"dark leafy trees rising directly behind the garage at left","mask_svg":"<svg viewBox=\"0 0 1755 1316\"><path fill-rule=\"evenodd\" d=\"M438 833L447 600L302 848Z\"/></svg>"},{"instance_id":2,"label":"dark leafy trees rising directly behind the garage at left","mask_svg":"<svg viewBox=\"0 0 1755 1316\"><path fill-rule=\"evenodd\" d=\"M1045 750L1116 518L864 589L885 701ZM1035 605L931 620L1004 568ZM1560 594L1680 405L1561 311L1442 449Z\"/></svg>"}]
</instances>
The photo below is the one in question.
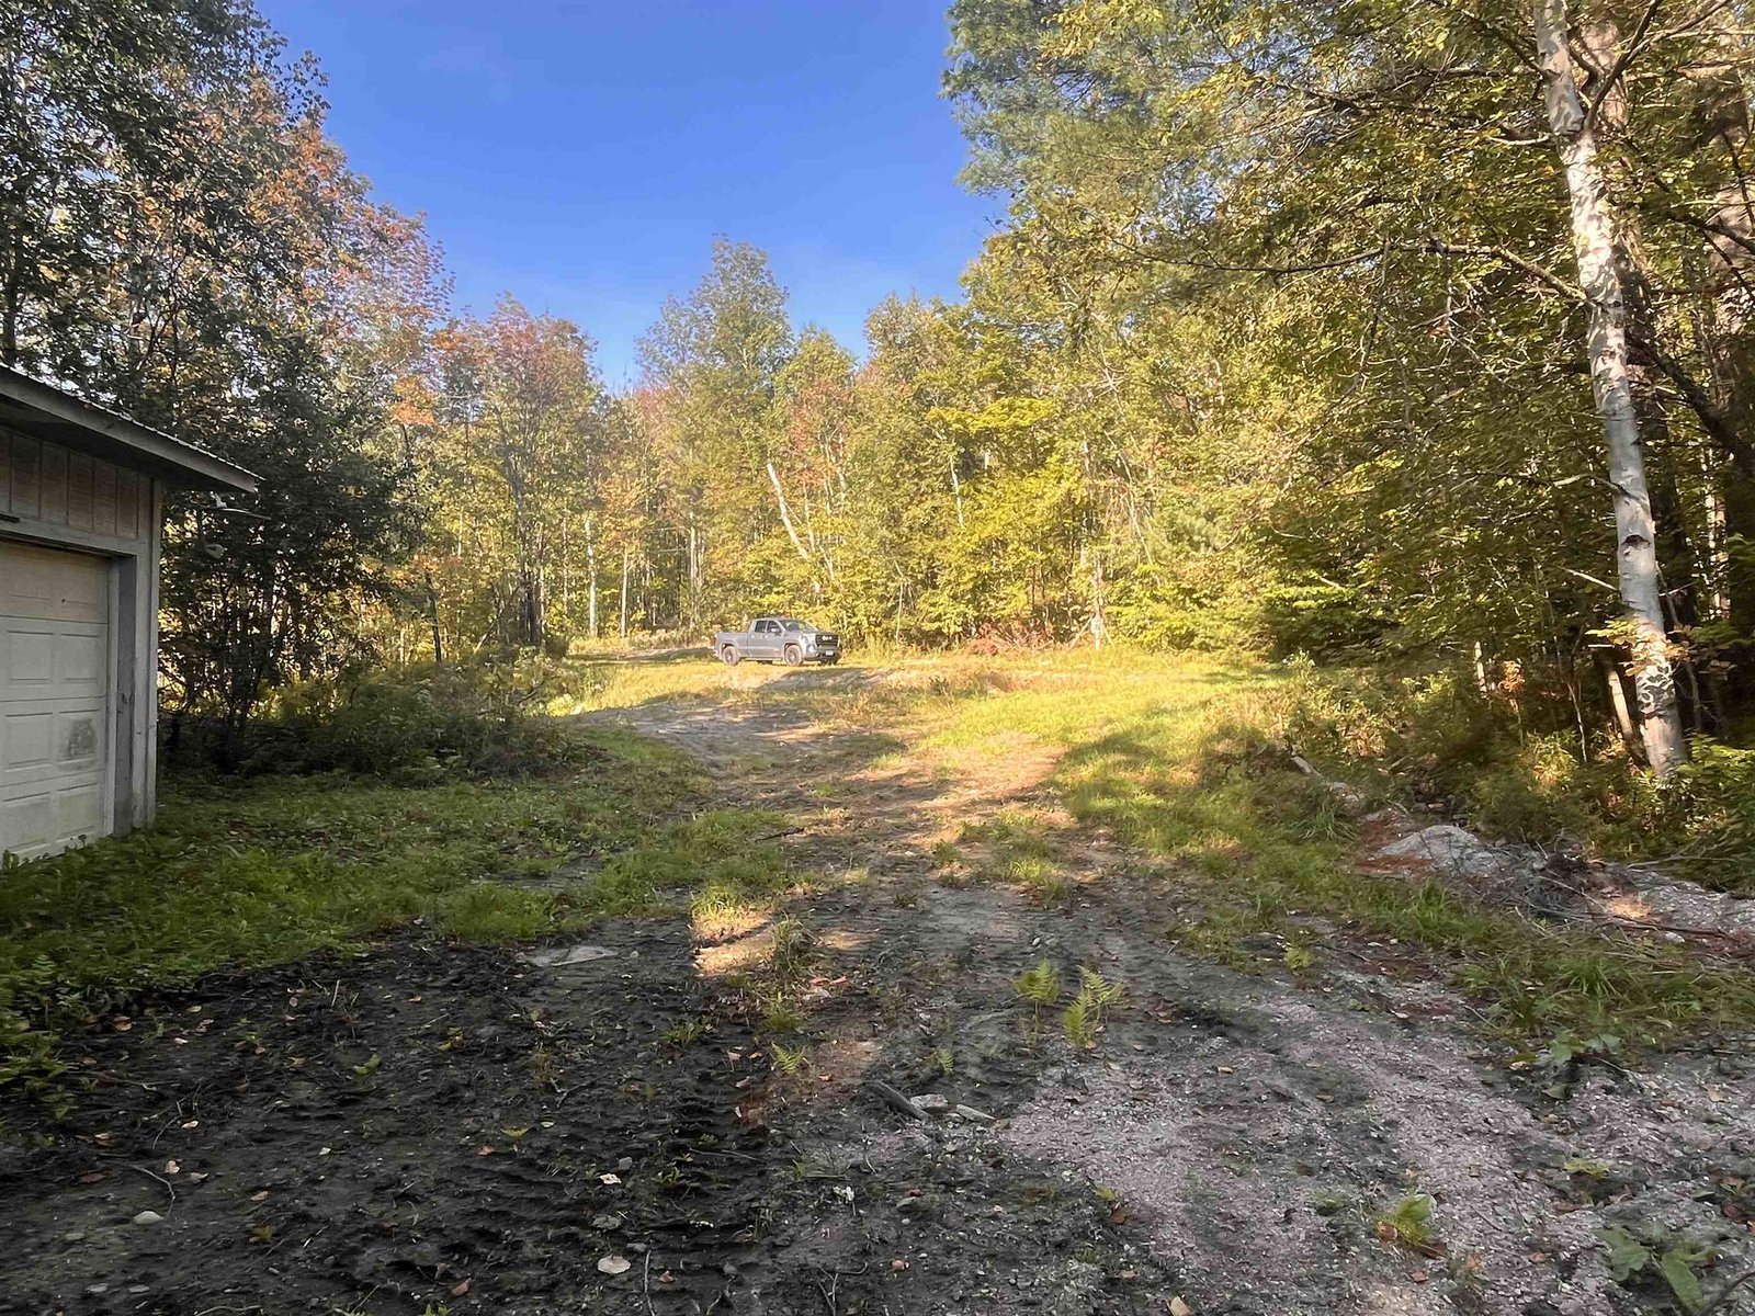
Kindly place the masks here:
<instances>
[{"instance_id":1,"label":"dark leafy trees rising directly behind the garage at left","mask_svg":"<svg viewBox=\"0 0 1755 1316\"><path fill-rule=\"evenodd\" d=\"M381 437L442 275L247 0L44 18L0 12L0 361L261 477L230 509L167 509L168 702L235 735L269 688L358 653L411 546Z\"/></svg>"}]
</instances>

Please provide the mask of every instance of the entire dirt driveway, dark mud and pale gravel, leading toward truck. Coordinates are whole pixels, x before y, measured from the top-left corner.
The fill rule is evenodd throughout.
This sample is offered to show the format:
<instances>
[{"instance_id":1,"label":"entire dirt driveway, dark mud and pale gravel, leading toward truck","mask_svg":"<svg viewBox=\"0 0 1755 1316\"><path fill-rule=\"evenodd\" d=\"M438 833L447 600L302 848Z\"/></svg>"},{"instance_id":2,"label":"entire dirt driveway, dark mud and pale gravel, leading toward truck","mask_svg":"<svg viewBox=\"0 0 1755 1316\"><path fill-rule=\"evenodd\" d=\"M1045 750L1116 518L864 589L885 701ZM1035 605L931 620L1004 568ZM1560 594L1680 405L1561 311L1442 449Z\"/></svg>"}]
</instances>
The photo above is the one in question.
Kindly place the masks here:
<instances>
[{"instance_id":1,"label":"entire dirt driveway, dark mud and pale gravel, leading toward truck","mask_svg":"<svg viewBox=\"0 0 1755 1316\"><path fill-rule=\"evenodd\" d=\"M881 674L781 679L602 716L790 819L800 1018L751 1007L770 918L546 963L398 933L167 995L81 1039L63 1125L9 1098L0 1311L1678 1309L1611 1279L1609 1225L1720 1239L1708 1295L1748 1269L1746 1056L1557 1100L1393 955L1190 958L1176 872L1079 832L1049 753L948 762L811 698ZM1018 811L1058 828L1057 898L978 874ZM1081 970L1120 986L1086 1030Z\"/></svg>"}]
</instances>

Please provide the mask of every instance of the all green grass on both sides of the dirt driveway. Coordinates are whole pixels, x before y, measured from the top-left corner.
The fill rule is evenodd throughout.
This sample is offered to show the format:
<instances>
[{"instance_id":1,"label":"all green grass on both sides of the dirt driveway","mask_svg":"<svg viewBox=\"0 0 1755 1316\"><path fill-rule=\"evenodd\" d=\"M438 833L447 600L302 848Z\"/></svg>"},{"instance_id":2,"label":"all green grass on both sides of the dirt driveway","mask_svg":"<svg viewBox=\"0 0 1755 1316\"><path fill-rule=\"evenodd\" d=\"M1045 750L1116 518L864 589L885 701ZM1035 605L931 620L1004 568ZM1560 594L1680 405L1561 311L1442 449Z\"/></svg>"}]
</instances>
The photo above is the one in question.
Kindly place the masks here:
<instances>
[{"instance_id":1,"label":"all green grass on both sides of the dirt driveway","mask_svg":"<svg viewBox=\"0 0 1755 1316\"><path fill-rule=\"evenodd\" d=\"M1299 951L1285 967L1311 969L1320 916L1430 948L1508 1037L1669 1042L1755 1023L1751 976L1688 948L1534 923L1439 884L1357 872L1353 823L1272 747L1297 681L1265 667L1062 653L855 667L828 684L711 662L569 667L558 711L806 700L814 718L865 733L862 755L907 753L916 772L979 774L1053 749L1048 784L1078 825L1164 860L1164 895L1183 919L1165 918L1171 935L1221 962L1260 967L1241 942L1272 930ZM0 874L0 1081L7 1056L11 1072L46 1072L47 1028L142 986L356 948L416 921L467 941L658 911L734 928L799 890L776 844L779 816L709 809L677 821L706 802L683 755L607 728L583 739L583 762L546 777L183 784L151 832ZM1030 812L967 828L942 851L941 863L969 862L1044 900L1071 891L1067 839ZM776 930L777 977L809 962L793 932ZM1039 1016L1042 1000L1020 991ZM1100 1009L1086 1007L1072 1032L1097 1025Z\"/></svg>"}]
</instances>

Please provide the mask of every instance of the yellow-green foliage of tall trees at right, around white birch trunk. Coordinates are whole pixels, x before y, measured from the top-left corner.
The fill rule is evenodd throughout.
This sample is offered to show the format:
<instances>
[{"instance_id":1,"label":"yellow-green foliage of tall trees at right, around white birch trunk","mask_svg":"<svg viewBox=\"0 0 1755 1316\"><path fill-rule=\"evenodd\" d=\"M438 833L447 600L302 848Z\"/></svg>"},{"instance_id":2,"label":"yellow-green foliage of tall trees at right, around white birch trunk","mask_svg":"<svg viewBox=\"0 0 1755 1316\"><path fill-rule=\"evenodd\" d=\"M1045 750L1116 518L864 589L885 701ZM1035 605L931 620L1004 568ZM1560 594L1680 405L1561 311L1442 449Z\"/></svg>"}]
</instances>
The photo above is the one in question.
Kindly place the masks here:
<instances>
[{"instance_id":1,"label":"yellow-green foliage of tall trees at right, around white birch trunk","mask_svg":"<svg viewBox=\"0 0 1755 1316\"><path fill-rule=\"evenodd\" d=\"M1646 353L1671 642L1685 712L1722 733L1755 653L1755 335L1687 207L1748 184L1746 130L1709 125L1720 105L1743 123L1750 56L1706 32L1655 49L1613 7L1571 21L1595 44L1578 58L1615 70L1592 132ZM1560 760L1595 776L1616 753L1604 672L1662 681L1634 670L1599 532L1530 12L958 0L951 32L967 177L1013 207L967 277L969 333L1013 349L1009 391L1079 418L1079 553L1116 632L1425 676L1472 658L1494 707L1464 739L1495 732L1478 747L1504 760L1476 774L1474 805L1551 821L1555 795L1590 790L1557 784Z\"/></svg>"}]
</instances>

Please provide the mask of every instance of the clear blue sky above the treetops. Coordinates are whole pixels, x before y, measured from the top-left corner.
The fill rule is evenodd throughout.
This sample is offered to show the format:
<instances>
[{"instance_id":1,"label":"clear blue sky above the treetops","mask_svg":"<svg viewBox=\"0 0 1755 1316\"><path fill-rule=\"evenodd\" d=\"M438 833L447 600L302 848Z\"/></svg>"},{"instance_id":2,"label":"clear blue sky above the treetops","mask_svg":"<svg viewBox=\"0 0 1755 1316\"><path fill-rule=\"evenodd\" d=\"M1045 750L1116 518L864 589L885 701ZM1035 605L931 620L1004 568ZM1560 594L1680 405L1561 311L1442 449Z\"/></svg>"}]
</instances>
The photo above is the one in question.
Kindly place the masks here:
<instances>
[{"instance_id":1,"label":"clear blue sky above the treetops","mask_svg":"<svg viewBox=\"0 0 1755 1316\"><path fill-rule=\"evenodd\" d=\"M944 0L258 7L323 63L376 195L426 216L458 305L577 321L612 384L716 233L860 349L885 293L955 297L1000 211L956 184Z\"/></svg>"}]
</instances>

